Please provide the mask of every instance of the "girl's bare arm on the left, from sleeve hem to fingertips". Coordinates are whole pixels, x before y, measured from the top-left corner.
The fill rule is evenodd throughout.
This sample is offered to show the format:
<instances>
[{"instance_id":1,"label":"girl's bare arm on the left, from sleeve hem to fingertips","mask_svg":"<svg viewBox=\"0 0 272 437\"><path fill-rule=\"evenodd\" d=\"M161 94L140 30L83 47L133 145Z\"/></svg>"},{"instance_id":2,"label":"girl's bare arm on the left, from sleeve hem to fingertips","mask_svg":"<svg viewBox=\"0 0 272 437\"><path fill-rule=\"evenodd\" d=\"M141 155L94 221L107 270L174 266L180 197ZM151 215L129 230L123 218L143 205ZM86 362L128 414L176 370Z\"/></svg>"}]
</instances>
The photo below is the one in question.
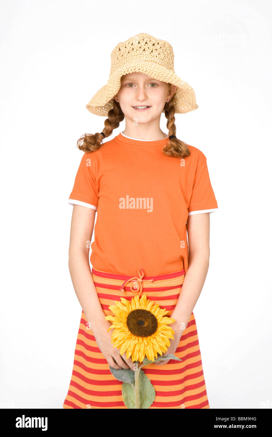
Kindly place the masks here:
<instances>
[{"instance_id":1,"label":"girl's bare arm on the left, from sleeve hem to fingertips","mask_svg":"<svg viewBox=\"0 0 272 437\"><path fill-rule=\"evenodd\" d=\"M96 211L92 208L73 206L69 243L69 271L72 284L96 343L108 364L116 369L133 369L131 358L127 359L125 354L121 356L119 350L111 344L111 332L107 333L111 323L105 320L106 315L93 283L88 242L92 239L95 214Z\"/></svg>"}]
</instances>

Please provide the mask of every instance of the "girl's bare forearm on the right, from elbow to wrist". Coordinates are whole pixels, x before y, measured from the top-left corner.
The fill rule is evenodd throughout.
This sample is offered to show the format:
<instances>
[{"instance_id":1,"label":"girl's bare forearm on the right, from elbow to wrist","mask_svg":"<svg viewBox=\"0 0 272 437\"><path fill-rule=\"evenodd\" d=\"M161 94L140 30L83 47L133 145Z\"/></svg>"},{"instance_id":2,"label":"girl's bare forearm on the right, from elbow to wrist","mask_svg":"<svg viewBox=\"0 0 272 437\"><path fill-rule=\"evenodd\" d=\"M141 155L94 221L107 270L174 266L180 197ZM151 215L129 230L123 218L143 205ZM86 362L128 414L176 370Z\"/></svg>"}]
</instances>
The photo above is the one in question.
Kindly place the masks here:
<instances>
[{"instance_id":1,"label":"girl's bare forearm on the right, from elbow to wrist","mask_svg":"<svg viewBox=\"0 0 272 437\"><path fill-rule=\"evenodd\" d=\"M193 312L196 302L202 291L207 272L209 270L209 257L206 253L199 253L189 257L188 270L186 271L179 299L171 317L176 320L183 331ZM182 323L182 325L181 325Z\"/></svg>"}]
</instances>

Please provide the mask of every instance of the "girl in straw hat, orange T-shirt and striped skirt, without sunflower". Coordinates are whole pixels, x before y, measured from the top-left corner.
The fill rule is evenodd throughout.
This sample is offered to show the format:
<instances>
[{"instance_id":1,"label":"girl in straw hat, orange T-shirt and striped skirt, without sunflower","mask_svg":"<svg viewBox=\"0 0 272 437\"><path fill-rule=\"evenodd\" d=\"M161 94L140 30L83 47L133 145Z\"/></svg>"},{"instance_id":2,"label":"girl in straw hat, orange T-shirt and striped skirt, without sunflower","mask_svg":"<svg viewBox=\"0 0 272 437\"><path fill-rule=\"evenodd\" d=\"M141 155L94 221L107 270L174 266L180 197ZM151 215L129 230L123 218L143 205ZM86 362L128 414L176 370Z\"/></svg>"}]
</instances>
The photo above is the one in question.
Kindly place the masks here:
<instances>
[{"instance_id":1,"label":"girl in straw hat, orange T-shirt and striped skirt, without sunflower","mask_svg":"<svg viewBox=\"0 0 272 437\"><path fill-rule=\"evenodd\" d=\"M176 76L172 46L141 33L117 44L107 85L86 108L107 119L103 132L78 141L85 153L69 196L69 271L83 310L63 408L127 408L109 365L133 370L133 362L111 344L105 316L141 291L175 319L165 354L182 360L142 368L156 392L150 408L210 408L193 308L218 207L206 156L179 140L175 126L175 113L198 108L194 90ZM102 143L124 119L124 131Z\"/></svg>"}]
</instances>

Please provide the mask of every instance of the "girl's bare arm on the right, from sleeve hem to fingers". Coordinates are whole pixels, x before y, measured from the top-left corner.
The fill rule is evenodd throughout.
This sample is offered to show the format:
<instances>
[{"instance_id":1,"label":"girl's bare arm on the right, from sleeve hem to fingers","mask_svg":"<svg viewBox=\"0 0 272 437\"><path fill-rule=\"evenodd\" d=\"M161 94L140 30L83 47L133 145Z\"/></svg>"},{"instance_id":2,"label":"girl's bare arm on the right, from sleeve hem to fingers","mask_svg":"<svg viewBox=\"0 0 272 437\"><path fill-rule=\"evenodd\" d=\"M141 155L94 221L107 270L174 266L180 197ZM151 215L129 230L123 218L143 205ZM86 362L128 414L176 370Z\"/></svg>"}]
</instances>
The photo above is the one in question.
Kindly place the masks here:
<instances>
[{"instance_id":1,"label":"girl's bare arm on the right, from sleeve hem to fingers","mask_svg":"<svg viewBox=\"0 0 272 437\"><path fill-rule=\"evenodd\" d=\"M210 258L210 213L189 215L187 219L187 232L189 244L189 263L178 302L171 318L176 322L169 325L174 331L174 339L170 340L170 346L165 352L175 354L182 332L186 328L189 318L193 312L196 302L202 291L208 269ZM181 325L182 323L182 325ZM163 365L168 361L161 361Z\"/></svg>"}]
</instances>

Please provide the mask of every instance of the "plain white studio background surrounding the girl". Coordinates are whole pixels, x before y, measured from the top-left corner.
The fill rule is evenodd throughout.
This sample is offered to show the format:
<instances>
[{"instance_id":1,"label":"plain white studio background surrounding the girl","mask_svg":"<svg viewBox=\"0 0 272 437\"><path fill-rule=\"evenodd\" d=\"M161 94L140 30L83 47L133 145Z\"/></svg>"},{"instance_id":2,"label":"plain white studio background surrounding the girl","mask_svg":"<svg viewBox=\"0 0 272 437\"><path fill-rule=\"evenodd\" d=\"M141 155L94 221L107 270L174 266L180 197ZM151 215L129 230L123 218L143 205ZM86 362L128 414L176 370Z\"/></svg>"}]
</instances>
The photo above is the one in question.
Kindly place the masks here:
<instances>
[{"instance_id":1,"label":"plain white studio background surrounding the girl","mask_svg":"<svg viewBox=\"0 0 272 437\"><path fill-rule=\"evenodd\" d=\"M68 269L76 142L103 129L85 106L111 51L146 32L170 42L196 92L177 135L207 156L218 202L194 309L210 408L272 408L271 12L269 0L1 2L0 406L62 408L81 316Z\"/></svg>"}]
</instances>

